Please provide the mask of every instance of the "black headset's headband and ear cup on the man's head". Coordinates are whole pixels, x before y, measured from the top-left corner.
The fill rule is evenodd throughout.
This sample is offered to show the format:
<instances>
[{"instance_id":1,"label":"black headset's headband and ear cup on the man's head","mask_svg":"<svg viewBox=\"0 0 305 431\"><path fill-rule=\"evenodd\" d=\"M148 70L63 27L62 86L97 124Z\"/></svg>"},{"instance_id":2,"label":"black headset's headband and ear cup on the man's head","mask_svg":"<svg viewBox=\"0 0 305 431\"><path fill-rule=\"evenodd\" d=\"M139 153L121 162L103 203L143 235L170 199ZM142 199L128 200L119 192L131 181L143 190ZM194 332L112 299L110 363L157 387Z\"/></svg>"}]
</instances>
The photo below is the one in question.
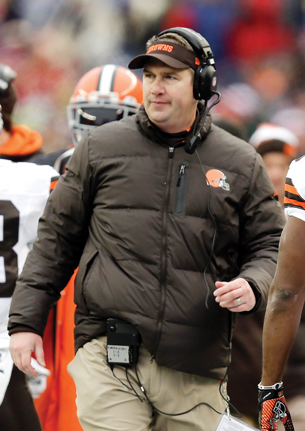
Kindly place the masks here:
<instances>
[{"instance_id":1,"label":"black headset's headband and ear cup on the man's head","mask_svg":"<svg viewBox=\"0 0 305 431\"><path fill-rule=\"evenodd\" d=\"M185 38L199 56L200 65L195 70L193 94L196 100L209 100L217 89L217 72L212 50L208 42L199 33L187 27L172 27L157 35L176 33Z\"/></svg>"}]
</instances>

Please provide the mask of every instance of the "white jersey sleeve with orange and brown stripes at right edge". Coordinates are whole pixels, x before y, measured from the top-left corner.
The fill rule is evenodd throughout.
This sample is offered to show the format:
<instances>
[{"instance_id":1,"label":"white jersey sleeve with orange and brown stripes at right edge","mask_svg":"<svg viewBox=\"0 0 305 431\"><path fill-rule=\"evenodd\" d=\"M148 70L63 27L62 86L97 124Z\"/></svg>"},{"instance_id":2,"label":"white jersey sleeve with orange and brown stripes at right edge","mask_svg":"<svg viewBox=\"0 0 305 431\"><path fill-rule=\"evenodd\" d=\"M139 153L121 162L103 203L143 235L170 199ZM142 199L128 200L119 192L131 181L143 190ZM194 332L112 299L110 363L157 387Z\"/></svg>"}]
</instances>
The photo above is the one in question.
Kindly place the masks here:
<instances>
[{"instance_id":1,"label":"white jersey sleeve with orange and brown stripes at right edge","mask_svg":"<svg viewBox=\"0 0 305 431\"><path fill-rule=\"evenodd\" d=\"M289 166L286 184L284 211L305 222L305 156L293 160Z\"/></svg>"}]
</instances>

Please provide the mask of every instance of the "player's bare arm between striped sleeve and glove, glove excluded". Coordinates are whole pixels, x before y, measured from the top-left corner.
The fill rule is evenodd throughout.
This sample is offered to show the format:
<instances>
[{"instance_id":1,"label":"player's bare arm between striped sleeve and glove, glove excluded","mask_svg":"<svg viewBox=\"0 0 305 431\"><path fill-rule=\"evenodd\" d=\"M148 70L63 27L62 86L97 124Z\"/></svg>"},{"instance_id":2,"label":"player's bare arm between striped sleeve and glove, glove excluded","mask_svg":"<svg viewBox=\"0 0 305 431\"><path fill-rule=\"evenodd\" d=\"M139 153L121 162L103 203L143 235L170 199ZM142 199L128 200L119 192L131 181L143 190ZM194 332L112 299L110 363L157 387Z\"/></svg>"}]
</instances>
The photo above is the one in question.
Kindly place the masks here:
<instances>
[{"instance_id":1,"label":"player's bare arm between striped sleeve and glove, glove excluded","mask_svg":"<svg viewBox=\"0 0 305 431\"><path fill-rule=\"evenodd\" d=\"M305 222L289 217L280 241L263 329L262 385L281 382L304 303Z\"/></svg>"}]
</instances>

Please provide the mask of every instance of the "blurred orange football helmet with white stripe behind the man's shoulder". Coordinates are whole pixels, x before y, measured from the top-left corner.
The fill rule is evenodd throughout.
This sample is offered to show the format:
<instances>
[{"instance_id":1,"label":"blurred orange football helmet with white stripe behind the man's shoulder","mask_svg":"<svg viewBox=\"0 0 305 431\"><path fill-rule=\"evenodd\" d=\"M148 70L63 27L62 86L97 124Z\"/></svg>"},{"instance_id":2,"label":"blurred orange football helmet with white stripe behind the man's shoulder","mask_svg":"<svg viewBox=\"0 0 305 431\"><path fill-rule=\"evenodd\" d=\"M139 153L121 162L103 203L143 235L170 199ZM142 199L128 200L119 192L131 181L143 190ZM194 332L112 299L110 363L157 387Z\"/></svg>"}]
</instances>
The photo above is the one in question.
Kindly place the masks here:
<instances>
[{"instance_id":1,"label":"blurred orange football helmet with white stripe behind the man's shoulder","mask_svg":"<svg viewBox=\"0 0 305 431\"><path fill-rule=\"evenodd\" d=\"M142 100L140 79L123 66L103 65L88 71L67 107L74 145L87 130L135 114Z\"/></svg>"}]
</instances>

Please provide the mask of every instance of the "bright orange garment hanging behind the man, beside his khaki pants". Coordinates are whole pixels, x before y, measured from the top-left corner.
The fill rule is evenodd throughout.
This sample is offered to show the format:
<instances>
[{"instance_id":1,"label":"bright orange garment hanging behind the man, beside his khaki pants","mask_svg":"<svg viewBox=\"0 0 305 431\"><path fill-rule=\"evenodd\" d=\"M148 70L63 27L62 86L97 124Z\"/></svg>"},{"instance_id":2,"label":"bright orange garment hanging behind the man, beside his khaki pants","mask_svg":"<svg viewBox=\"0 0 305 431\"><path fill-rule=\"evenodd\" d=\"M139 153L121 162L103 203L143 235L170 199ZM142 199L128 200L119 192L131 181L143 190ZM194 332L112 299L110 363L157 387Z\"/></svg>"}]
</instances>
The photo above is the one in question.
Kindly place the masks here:
<instances>
[{"instance_id":1,"label":"bright orange garment hanging behind the man, beside his khaki pants","mask_svg":"<svg viewBox=\"0 0 305 431\"><path fill-rule=\"evenodd\" d=\"M83 431L76 415L76 389L67 365L74 358L74 279L51 311L43 337L47 388L34 400L44 431Z\"/></svg>"}]
</instances>

